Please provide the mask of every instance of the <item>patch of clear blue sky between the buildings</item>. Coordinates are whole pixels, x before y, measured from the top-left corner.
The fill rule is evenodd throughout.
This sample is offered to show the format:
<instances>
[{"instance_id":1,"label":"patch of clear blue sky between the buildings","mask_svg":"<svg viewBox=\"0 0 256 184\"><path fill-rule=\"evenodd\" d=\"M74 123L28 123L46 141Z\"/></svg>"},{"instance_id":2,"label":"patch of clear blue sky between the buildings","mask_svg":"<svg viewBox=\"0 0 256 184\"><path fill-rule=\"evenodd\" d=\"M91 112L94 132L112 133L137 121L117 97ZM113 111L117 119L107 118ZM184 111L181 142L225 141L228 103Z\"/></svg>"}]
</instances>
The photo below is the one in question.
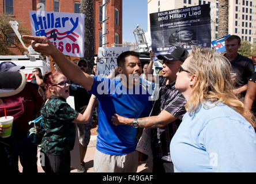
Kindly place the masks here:
<instances>
[{"instance_id":1,"label":"patch of clear blue sky between the buildings","mask_svg":"<svg viewBox=\"0 0 256 184\"><path fill-rule=\"evenodd\" d=\"M123 41L135 41L137 24L148 31L148 0L123 0Z\"/></svg>"}]
</instances>

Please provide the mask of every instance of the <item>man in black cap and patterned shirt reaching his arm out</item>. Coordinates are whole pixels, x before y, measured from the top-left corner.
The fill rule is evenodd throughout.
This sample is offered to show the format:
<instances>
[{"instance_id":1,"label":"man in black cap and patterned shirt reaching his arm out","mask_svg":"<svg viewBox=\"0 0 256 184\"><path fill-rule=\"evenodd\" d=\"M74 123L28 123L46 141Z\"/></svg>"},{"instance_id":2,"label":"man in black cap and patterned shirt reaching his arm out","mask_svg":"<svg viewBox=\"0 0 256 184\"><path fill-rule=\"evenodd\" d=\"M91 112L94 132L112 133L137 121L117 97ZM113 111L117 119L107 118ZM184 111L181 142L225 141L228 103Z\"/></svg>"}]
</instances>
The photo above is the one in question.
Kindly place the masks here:
<instances>
[{"instance_id":1,"label":"man in black cap and patterned shirt reaching his arm out","mask_svg":"<svg viewBox=\"0 0 256 184\"><path fill-rule=\"evenodd\" d=\"M184 48L172 47L167 54L157 56L164 62L163 76L159 77L159 98L154 102L149 117L136 120L138 127L152 128L153 173L174 172L170 156L170 142L186 113L186 100L175 88L176 73L189 72L181 67L188 53ZM154 56L155 53L150 52L150 63L147 71L152 71ZM133 125L134 118L125 118L115 114L112 121L115 125Z\"/></svg>"}]
</instances>

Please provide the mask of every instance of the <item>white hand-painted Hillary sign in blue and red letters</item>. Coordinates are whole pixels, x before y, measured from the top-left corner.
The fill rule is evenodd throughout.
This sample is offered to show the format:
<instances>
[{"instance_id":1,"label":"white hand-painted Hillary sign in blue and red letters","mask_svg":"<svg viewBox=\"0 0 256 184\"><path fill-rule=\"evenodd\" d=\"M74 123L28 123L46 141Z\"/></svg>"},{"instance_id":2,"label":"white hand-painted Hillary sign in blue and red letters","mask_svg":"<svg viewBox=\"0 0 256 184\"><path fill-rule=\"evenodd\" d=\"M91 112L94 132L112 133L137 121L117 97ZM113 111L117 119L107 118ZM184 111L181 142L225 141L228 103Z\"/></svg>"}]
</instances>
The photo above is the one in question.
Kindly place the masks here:
<instances>
[{"instance_id":1,"label":"white hand-painted Hillary sign in blue and red letters","mask_svg":"<svg viewBox=\"0 0 256 184\"><path fill-rule=\"evenodd\" d=\"M29 11L33 36L46 36L64 55L84 57L84 14Z\"/></svg>"}]
</instances>

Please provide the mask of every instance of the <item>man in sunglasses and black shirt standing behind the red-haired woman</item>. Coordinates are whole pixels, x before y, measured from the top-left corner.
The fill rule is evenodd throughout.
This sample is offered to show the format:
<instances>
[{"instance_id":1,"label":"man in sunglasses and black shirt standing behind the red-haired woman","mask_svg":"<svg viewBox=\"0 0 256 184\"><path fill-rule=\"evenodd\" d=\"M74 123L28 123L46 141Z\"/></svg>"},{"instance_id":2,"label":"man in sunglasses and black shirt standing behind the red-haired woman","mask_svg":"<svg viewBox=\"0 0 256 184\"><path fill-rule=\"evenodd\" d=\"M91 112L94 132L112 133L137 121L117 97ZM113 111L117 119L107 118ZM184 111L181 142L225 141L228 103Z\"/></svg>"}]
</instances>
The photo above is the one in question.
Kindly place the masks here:
<instances>
[{"instance_id":1,"label":"man in sunglasses and black shirt standing behind the red-haired woman","mask_svg":"<svg viewBox=\"0 0 256 184\"><path fill-rule=\"evenodd\" d=\"M85 73L88 71L87 62L84 59L80 59L77 63L77 66L80 68L81 71ZM85 106L88 105L91 94L87 93L84 87L78 85L75 82L70 82L69 94L74 97L75 109L81 113L82 110L84 110ZM87 150L87 145L89 144L91 137L91 128L91 122L88 124L77 124L81 164L81 169L78 170L78 173L86 173L84 158Z\"/></svg>"}]
</instances>

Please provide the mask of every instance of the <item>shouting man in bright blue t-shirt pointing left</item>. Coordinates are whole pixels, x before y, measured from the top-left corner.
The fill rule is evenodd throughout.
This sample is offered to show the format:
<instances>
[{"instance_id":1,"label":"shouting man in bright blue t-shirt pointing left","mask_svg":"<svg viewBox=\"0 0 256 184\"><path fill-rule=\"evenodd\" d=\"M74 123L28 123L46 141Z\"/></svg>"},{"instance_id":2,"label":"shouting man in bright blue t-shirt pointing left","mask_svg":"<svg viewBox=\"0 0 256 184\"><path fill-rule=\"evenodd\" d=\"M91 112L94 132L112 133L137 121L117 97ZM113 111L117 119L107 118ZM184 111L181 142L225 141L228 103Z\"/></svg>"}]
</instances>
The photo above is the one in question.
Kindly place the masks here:
<instances>
[{"instance_id":1,"label":"shouting man in bright blue t-shirt pointing left","mask_svg":"<svg viewBox=\"0 0 256 184\"><path fill-rule=\"evenodd\" d=\"M138 166L137 122L133 127L115 126L115 113L128 118L146 117L152 108L150 95L140 85L142 72L137 52L127 51L118 56L121 79L107 79L82 72L46 38L23 36L31 39L35 51L51 55L63 74L96 95L99 101L99 127L94 159L95 172L136 172Z\"/></svg>"}]
</instances>

